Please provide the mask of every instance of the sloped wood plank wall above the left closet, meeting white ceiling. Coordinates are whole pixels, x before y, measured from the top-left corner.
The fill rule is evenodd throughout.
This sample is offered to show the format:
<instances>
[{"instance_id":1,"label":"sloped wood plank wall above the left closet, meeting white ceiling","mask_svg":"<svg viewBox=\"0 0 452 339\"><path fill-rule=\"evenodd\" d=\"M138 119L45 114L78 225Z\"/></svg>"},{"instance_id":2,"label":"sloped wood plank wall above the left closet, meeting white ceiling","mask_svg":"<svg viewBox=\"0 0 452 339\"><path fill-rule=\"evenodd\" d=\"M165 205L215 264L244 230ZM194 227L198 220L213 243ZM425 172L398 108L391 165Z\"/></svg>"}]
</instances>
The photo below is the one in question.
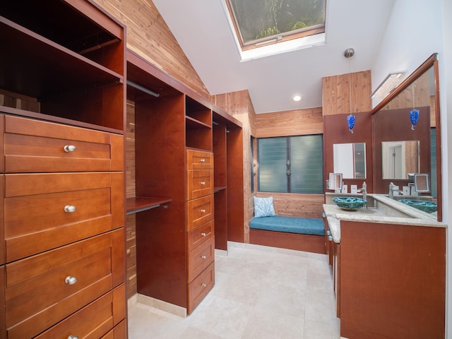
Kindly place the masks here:
<instances>
[{"instance_id":1,"label":"sloped wood plank wall above the left closet, meeting white ceiling","mask_svg":"<svg viewBox=\"0 0 452 339\"><path fill-rule=\"evenodd\" d=\"M152 0L93 0L126 25L127 48L210 100L206 86Z\"/></svg>"}]
</instances>

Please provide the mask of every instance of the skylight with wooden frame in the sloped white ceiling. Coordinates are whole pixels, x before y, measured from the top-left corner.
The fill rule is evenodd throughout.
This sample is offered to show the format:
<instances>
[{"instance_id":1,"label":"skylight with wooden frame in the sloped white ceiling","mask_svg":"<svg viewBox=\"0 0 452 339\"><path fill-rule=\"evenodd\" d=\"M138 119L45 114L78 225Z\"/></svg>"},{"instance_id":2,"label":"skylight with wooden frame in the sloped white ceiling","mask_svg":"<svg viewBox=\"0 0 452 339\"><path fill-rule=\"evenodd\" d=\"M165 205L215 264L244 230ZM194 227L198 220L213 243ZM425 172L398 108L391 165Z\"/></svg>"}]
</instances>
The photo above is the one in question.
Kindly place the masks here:
<instances>
[{"instance_id":1,"label":"skylight with wooden frame in the sloped white ceiling","mask_svg":"<svg viewBox=\"0 0 452 339\"><path fill-rule=\"evenodd\" d=\"M242 59L325 41L326 0L225 0L225 3Z\"/></svg>"}]
</instances>

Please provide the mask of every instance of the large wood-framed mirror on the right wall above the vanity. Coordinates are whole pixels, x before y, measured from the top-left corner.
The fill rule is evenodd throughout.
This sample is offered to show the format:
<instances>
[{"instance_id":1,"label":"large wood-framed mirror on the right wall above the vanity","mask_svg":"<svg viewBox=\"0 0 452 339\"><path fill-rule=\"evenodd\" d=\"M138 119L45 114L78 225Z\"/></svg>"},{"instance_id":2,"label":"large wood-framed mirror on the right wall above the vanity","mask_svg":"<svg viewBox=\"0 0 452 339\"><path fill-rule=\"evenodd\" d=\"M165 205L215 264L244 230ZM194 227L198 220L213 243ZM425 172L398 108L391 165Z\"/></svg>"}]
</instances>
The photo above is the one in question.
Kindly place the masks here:
<instances>
[{"instance_id":1,"label":"large wood-framed mirror on the right wall above the vanity","mask_svg":"<svg viewBox=\"0 0 452 339\"><path fill-rule=\"evenodd\" d=\"M441 129L438 60L433 54L371 112L374 150L374 193L388 194L391 183L415 185L423 174L425 190L418 194L441 208ZM427 175L426 175L427 174ZM419 177L419 178L420 178Z\"/></svg>"}]
</instances>

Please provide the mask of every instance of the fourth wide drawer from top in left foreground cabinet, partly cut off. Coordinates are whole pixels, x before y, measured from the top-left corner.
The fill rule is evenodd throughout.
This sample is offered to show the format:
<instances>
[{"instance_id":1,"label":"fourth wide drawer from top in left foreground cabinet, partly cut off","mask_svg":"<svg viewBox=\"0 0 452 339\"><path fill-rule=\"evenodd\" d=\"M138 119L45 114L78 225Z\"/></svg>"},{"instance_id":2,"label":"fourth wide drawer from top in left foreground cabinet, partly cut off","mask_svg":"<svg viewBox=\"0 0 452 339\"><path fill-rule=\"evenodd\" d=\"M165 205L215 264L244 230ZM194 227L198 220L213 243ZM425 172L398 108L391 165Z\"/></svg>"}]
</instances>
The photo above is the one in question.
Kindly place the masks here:
<instances>
[{"instance_id":1,"label":"fourth wide drawer from top in left foreground cabinet, partly cut off","mask_svg":"<svg viewBox=\"0 0 452 339\"><path fill-rule=\"evenodd\" d=\"M118 299L118 295L121 295L122 300ZM119 305L115 303L119 303ZM114 319L114 309L118 309L118 307L122 309L123 316L121 319ZM38 335L36 339L101 338L102 335L112 330L116 323L123 320L125 314L124 285L121 285L49 328L49 330Z\"/></svg>"}]
</instances>

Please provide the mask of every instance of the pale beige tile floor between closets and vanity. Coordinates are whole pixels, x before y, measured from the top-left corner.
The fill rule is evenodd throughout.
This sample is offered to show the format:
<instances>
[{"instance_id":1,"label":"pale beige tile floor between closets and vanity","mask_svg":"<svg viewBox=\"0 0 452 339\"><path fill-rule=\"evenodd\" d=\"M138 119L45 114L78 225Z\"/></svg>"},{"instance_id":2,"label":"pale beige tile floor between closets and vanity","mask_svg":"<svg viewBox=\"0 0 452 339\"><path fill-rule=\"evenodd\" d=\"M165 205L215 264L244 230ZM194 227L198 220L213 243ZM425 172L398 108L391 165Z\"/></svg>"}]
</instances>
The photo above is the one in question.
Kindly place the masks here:
<instances>
[{"instance_id":1,"label":"pale beige tile floor between closets and vanity","mask_svg":"<svg viewBox=\"0 0 452 339\"><path fill-rule=\"evenodd\" d=\"M186 317L129 305L129 339L338 339L326 255L230 243L215 287Z\"/></svg>"}]
</instances>

